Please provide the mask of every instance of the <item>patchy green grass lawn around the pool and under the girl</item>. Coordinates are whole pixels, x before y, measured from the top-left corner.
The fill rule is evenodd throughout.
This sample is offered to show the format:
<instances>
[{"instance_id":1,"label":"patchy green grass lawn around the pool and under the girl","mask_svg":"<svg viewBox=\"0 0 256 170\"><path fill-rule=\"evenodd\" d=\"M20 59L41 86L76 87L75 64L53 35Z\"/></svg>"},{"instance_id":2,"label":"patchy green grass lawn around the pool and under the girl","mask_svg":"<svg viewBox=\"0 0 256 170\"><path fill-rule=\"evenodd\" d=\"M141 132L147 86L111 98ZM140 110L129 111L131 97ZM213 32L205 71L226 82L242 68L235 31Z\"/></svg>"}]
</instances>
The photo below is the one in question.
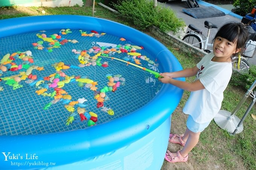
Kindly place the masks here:
<instances>
[{"instance_id":1,"label":"patchy green grass lawn around the pool and under the girl","mask_svg":"<svg viewBox=\"0 0 256 170\"><path fill-rule=\"evenodd\" d=\"M46 13L43 14L42 10ZM136 28L119 18L116 14L96 5L94 17L105 18L108 20L116 21L131 27ZM24 17L33 15L92 15L91 7L62 7L62 8L46 8L46 7L2 7L0 8L0 19ZM149 32L145 33L149 34ZM161 42L160 37L154 37ZM168 44L164 44L171 49ZM196 65L198 60L189 54L182 54L179 51L172 50L174 55L180 61L183 68L188 68ZM187 78L187 81L193 81L193 78ZM224 92L224 101L222 103L222 110L233 111L238 102L242 99L246 90L234 87L230 83ZM171 132L184 133L186 127L186 115L182 113L182 108L189 96L189 92L184 92L183 98L177 109L172 114L172 128ZM236 113L238 117L243 116L248 108L248 105L252 101L252 98L248 98L242 105L241 109ZM212 121L208 128L200 135L200 141L192 150L189 155L189 161L186 163L177 163L170 165L166 161L163 164L162 170L171 169L241 169L241 170L255 170L256 169L256 121L252 119L251 114L256 113L256 106L252 108L248 116L246 117L243 125L244 130L236 134L230 135L228 132L222 130ZM172 148L172 151L177 151Z\"/></svg>"}]
</instances>

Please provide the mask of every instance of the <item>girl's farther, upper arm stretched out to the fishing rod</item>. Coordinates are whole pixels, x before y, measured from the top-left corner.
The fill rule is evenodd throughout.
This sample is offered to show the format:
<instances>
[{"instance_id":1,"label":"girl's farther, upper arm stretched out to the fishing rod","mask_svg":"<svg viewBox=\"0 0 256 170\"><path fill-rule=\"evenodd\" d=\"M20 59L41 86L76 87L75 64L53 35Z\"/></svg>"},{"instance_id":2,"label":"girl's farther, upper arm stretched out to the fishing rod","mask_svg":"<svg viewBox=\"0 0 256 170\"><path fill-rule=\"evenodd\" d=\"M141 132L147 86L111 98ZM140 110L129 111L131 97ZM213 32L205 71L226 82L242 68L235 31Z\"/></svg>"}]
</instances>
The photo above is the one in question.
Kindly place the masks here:
<instances>
[{"instance_id":1,"label":"girl's farther, upper arm stretched out to the fishing rod","mask_svg":"<svg viewBox=\"0 0 256 170\"><path fill-rule=\"evenodd\" d=\"M164 72L160 75L167 75L170 78L177 78L177 77L192 77L196 75L198 72L197 66L194 66L192 68L183 69L181 71L177 72Z\"/></svg>"}]
</instances>

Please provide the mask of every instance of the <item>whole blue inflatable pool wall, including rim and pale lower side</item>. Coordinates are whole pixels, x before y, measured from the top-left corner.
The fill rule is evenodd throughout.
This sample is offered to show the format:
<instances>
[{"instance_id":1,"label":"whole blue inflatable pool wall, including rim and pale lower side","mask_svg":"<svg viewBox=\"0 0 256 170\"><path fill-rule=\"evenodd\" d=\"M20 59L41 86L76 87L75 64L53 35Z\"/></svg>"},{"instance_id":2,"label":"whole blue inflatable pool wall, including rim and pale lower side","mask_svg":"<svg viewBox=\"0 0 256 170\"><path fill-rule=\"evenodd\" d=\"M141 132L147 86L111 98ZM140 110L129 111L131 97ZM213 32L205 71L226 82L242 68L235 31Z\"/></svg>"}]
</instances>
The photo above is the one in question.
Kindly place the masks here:
<instances>
[{"instance_id":1,"label":"whole blue inflatable pool wall, including rim and pale lower side","mask_svg":"<svg viewBox=\"0 0 256 170\"><path fill-rule=\"evenodd\" d=\"M182 69L175 56L160 42L113 21L77 15L46 15L0 20L0 25L0 38L47 29L97 30L143 45L157 57L162 72ZM180 102L182 93L183 90L164 84L142 108L87 129L38 135L1 135L0 167L2 170L160 169L168 146L171 113Z\"/></svg>"}]
</instances>

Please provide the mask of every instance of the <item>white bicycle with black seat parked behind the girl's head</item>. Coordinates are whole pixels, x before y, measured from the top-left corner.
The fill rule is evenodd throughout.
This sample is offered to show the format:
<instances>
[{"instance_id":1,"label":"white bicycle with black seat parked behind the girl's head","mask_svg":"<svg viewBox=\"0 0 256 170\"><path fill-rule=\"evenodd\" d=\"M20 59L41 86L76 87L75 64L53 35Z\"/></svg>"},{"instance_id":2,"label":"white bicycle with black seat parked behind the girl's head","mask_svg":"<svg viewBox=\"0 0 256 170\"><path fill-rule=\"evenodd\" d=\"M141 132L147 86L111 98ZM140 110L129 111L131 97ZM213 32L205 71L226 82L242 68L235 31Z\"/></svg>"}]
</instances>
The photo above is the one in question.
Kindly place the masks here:
<instances>
[{"instance_id":1,"label":"white bicycle with black seat parked behind the girl's head","mask_svg":"<svg viewBox=\"0 0 256 170\"><path fill-rule=\"evenodd\" d=\"M256 44L253 44L251 42L254 42L256 40L255 32L251 28L251 23L254 23L255 20L251 20L247 24L247 29L249 33L249 41L247 44L245 44L244 49L241 51L241 53L238 54L237 57L234 57L232 59L232 65L233 69L235 69L238 72L247 73L249 71L250 65L247 62L249 58L252 58L255 55L255 46ZM204 27L208 29L207 36L203 35L203 32L197 29L194 25L189 24L190 31L186 33L183 41L200 48L201 50L210 53L211 51L209 49L212 49L213 44L208 43L209 42L209 36L210 36L210 29L212 28L218 28L215 24L210 23L209 21L204 21ZM248 55L250 54L250 55Z\"/></svg>"}]
</instances>

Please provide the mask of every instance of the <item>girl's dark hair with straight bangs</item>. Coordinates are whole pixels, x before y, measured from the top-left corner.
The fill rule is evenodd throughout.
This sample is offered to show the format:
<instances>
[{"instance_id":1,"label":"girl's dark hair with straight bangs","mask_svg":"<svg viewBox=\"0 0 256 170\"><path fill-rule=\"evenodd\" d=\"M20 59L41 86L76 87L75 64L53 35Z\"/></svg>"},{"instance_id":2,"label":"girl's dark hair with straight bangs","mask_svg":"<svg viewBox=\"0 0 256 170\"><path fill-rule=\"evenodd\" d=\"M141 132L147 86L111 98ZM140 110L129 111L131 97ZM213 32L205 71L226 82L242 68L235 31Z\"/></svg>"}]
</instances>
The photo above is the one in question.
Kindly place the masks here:
<instances>
[{"instance_id":1,"label":"girl's dark hair with straight bangs","mask_svg":"<svg viewBox=\"0 0 256 170\"><path fill-rule=\"evenodd\" d=\"M236 42L236 49L244 48L244 44L247 42L248 39L248 31L244 24L242 23L226 23L224 24L216 33L213 41L217 37L222 37L230 42ZM212 41L212 42L213 42Z\"/></svg>"}]
</instances>

